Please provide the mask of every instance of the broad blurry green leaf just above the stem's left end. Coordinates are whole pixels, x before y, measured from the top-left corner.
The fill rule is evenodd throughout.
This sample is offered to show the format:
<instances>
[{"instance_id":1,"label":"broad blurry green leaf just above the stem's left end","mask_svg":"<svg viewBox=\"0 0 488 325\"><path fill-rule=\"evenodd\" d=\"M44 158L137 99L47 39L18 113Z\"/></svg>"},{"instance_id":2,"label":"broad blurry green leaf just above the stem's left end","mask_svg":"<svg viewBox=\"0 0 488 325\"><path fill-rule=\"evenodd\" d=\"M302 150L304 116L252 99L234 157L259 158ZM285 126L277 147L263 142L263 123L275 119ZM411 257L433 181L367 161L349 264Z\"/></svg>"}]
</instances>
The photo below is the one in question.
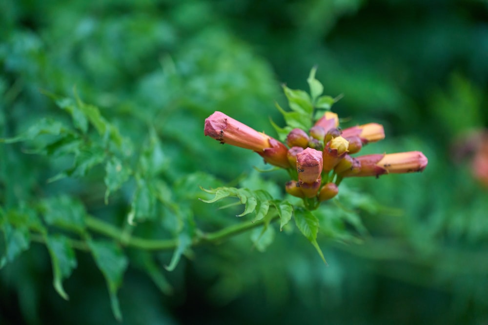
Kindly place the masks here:
<instances>
[{"instance_id":1,"label":"broad blurry green leaf just above the stem's left end","mask_svg":"<svg viewBox=\"0 0 488 325\"><path fill-rule=\"evenodd\" d=\"M80 201L61 195L42 201L44 220L47 224L83 233L86 211Z\"/></svg>"}]
</instances>

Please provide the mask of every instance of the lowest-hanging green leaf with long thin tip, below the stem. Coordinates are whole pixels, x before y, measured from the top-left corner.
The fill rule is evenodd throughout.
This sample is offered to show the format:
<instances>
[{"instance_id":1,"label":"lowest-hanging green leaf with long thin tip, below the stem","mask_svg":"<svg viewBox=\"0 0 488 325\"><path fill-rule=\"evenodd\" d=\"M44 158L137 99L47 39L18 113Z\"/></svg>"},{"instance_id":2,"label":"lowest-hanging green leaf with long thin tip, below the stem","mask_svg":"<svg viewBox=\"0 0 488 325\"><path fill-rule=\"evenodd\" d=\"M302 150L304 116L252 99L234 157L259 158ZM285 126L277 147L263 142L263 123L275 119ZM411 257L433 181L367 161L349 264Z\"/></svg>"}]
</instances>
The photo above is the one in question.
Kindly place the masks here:
<instances>
[{"instance_id":1,"label":"lowest-hanging green leaf with long thin tip, below the stem","mask_svg":"<svg viewBox=\"0 0 488 325\"><path fill-rule=\"evenodd\" d=\"M128 265L127 257L123 254L122 249L113 242L88 240L87 243L95 264L102 271L107 282L112 312L118 321L122 321L117 291L122 285L123 273Z\"/></svg>"}]
</instances>

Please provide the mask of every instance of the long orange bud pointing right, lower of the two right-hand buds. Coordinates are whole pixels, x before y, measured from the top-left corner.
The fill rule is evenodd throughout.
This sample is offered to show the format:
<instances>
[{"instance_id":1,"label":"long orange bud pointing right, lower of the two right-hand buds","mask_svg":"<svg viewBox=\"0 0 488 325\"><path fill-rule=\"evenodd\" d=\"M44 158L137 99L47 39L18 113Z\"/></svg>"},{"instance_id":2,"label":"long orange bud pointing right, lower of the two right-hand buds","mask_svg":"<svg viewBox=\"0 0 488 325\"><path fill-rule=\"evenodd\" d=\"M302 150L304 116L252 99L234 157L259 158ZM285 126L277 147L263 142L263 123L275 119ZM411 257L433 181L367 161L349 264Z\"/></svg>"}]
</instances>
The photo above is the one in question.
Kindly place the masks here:
<instances>
[{"instance_id":1,"label":"long orange bud pointing right, lower of the two right-hand buds","mask_svg":"<svg viewBox=\"0 0 488 325\"><path fill-rule=\"evenodd\" d=\"M361 170L344 176L379 176L387 173L422 172L427 167L427 157L420 151L389 154L367 154L356 157Z\"/></svg>"}]
</instances>

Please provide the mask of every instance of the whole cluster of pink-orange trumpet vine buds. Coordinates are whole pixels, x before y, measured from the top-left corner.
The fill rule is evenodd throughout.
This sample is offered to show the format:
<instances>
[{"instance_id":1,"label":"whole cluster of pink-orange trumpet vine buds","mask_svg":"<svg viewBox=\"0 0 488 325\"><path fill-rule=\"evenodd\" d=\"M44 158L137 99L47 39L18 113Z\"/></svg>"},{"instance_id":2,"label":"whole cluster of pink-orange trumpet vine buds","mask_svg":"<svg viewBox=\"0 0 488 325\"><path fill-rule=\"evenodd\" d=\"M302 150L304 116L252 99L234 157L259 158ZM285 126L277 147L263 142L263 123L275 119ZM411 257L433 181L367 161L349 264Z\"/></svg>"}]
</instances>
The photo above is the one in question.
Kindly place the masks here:
<instances>
[{"instance_id":1,"label":"whole cluster of pink-orange trumpet vine buds","mask_svg":"<svg viewBox=\"0 0 488 325\"><path fill-rule=\"evenodd\" d=\"M427 157L419 151L353 156L366 144L384 139L383 126L368 123L341 130L338 115L330 111L308 133L292 129L286 146L222 112L205 119L204 134L255 151L265 162L288 170L294 179L285 184L285 191L303 198L309 209L335 197L345 177L422 172L427 166Z\"/></svg>"}]
</instances>

